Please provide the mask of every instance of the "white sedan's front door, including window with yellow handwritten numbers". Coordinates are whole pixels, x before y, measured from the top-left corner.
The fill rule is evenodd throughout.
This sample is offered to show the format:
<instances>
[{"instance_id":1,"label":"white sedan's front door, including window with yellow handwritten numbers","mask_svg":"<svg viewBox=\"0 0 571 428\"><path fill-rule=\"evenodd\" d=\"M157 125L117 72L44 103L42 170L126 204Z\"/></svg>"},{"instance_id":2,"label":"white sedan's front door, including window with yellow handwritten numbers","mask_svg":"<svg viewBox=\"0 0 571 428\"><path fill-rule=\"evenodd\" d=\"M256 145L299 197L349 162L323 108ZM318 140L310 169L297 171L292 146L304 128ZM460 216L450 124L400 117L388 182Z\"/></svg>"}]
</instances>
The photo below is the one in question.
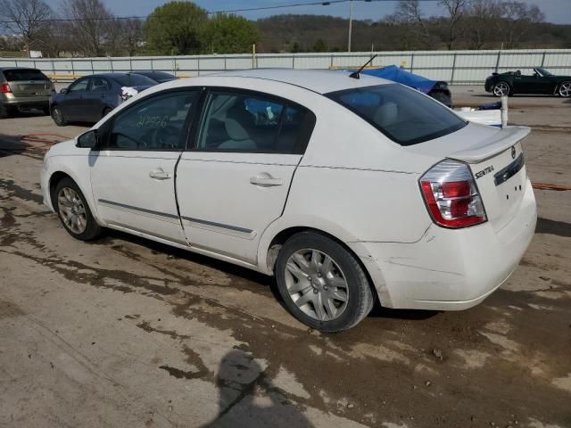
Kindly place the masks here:
<instances>
[{"instance_id":1,"label":"white sedan's front door, including window with yellow handwritten numbers","mask_svg":"<svg viewBox=\"0 0 571 428\"><path fill-rule=\"evenodd\" d=\"M186 243L175 198L175 167L186 144L197 91L152 95L112 118L90 156L100 218L112 226Z\"/></svg>"}]
</instances>

